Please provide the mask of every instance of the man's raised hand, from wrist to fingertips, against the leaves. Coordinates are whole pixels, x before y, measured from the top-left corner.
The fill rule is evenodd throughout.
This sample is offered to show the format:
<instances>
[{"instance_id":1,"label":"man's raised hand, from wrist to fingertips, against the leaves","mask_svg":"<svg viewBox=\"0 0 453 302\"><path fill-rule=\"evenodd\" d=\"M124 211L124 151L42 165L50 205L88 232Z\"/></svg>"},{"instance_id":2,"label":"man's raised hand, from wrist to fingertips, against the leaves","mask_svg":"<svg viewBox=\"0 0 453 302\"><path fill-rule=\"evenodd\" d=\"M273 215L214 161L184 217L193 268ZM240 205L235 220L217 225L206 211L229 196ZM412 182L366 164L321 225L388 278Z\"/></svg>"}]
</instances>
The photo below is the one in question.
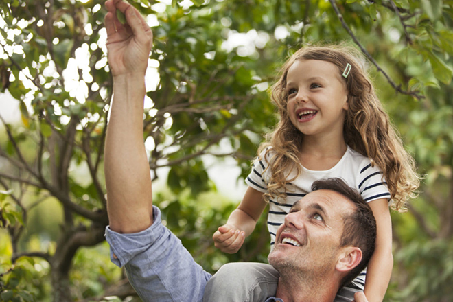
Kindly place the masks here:
<instances>
[{"instance_id":1,"label":"man's raised hand, from wrist to fingertips, against the leaves","mask_svg":"<svg viewBox=\"0 0 453 302\"><path fill-rule=\"evenodd\" d=\"M129 3L122 0L107 0L105 25L107 30L108 65L112 75L143 73L152 49L152 31L145 19ZM122 24L116 14L119 10L126 16Z\"/></svg>"}]
</instances>

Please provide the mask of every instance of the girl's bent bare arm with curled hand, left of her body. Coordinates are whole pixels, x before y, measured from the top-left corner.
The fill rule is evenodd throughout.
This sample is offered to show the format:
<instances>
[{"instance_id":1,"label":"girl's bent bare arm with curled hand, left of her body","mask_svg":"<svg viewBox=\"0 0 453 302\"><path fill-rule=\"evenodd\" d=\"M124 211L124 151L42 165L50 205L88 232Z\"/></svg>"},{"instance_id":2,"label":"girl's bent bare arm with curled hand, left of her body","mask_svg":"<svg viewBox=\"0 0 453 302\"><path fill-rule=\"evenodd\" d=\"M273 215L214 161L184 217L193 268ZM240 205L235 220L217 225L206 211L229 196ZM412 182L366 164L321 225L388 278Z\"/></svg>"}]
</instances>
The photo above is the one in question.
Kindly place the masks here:
<instances>
[{"instance_id":1,"label":"girl's bent bare arm with curled hand, left of her body","mask_svg":"<svg viewBox=\"0 0 453 302\"><path fill-rule=\"evenodd\" d=\"M224 253L233 254L239 251L245 237L255 229L266 205L262 192L248 187L239 207L231 212L227 224L219 227L212 236L214 246Z\"/></svg>"}]
</instances>

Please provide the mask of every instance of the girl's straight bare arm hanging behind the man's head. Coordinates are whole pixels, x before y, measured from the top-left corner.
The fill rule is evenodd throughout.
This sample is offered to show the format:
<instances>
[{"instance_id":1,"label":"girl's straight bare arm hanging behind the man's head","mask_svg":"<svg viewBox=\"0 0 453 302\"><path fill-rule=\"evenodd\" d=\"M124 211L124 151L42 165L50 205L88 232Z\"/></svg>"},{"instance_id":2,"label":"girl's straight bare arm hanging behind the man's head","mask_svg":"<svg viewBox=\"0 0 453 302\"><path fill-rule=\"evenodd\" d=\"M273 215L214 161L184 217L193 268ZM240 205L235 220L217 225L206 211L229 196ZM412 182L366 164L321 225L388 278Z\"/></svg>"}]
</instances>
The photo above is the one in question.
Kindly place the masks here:
<instances>
[{"instance_id":1,"label":"girl's straight bare arm hanging behind the man's head","mask_svg":"<svg viewBox=\"0 0 453 302\"><path fill-rule=\"evenodd\" d=\"M364 293L369 302L382 302L393 269L392 222L386 198L369 202L376 219L376 247L367 268Z\"/></svg>"}]
</instances>

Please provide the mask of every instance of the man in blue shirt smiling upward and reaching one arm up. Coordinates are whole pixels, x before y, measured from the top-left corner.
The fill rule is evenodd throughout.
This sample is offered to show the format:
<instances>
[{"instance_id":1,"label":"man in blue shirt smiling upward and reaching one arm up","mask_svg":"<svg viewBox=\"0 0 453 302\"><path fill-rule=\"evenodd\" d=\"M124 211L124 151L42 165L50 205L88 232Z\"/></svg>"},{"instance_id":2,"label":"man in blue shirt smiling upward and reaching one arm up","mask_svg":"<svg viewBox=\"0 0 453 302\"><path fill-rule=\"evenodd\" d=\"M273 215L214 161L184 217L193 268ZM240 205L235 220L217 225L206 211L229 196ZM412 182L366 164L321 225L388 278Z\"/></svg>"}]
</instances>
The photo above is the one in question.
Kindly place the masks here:
<instances>
[{"instance_id":1,"label":"man in blue shirt smiling upward and reaching one arm up","mask_svg":"<svg viewBox=\"0 0 453 302\"><path fill-rule=\"evenodd\" d=\"M143 301L202 301L211 275L161 224L161 213L152 206L142 128L144 75L152 32L128 3L108 0L106 8L108 62L113 75L105 147L110 220L106 238L111 245L111 258L126 267L129 280ZM115 10L125 14L126 24L119 22ZM358 238L349 236L356 234L349 222L358 221L357 216L371 210L367 206L361 209L362 204L355 204L354 197L334 191L330 182L307 194L303 202L297 202L280 227L277 244L269 255L269 262L280 277L276 298L267 301L333 301L338 288L366 265L373 246L355 242ZM372 214L370 221L374 221ZM373 225L375 228L371 223L371 229ZM361 225L358 230L362 227L366 226ZM209 288L216 290L216 286ZM366 301L360 294L356 300Z\"/></svg>"}]
</instances>

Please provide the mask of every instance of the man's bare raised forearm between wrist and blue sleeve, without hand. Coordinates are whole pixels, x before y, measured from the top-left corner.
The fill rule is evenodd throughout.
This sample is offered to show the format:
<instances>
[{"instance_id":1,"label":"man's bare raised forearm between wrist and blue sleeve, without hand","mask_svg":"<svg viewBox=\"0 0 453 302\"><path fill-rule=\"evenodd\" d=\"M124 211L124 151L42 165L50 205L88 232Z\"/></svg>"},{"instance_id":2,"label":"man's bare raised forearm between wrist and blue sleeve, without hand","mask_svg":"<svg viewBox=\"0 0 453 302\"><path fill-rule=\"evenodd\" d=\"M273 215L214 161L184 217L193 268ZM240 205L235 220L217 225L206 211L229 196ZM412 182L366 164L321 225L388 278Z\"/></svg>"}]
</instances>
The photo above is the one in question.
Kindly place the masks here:
<instances>
[{"instance_id":1,"label":"man's bare raised forearm between wrist and blue sleeve, without hand","mask_svg":"<svg viewBox=\"0 0 453 302\"><path fill-rule=\"evenodd\" d=\"M152 189L143 144L143 73L115 77L105 146L110 227L134 233L152 224Z\"/></svg>"}]
</instances>

